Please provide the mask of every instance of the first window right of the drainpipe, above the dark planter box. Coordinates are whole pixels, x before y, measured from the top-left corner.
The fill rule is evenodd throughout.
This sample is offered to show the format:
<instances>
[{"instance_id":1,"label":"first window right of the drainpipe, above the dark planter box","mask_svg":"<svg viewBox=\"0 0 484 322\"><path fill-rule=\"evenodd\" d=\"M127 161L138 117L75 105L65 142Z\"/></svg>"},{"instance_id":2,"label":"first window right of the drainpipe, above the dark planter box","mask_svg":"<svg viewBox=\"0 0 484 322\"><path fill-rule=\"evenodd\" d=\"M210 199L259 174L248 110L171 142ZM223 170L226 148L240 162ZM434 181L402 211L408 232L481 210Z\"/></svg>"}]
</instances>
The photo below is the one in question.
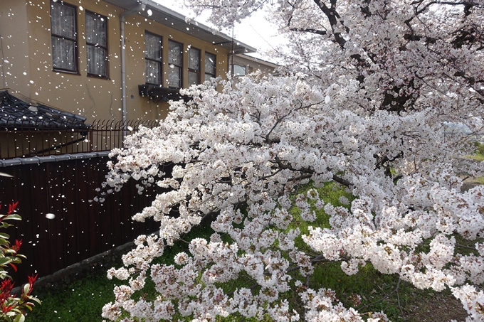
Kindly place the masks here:
<instances>
[{"instance_id":1,"label":"first window right of the drainpipe, above the dark planter box","mask_svg":"<svg viewBox=\"0 0 484 322\"><path fill-rule=\"evenodd\" d=\"M162 37L144 33L144 75L148 84L162 85L162 48Z\"/></svg>"}]
</instances>

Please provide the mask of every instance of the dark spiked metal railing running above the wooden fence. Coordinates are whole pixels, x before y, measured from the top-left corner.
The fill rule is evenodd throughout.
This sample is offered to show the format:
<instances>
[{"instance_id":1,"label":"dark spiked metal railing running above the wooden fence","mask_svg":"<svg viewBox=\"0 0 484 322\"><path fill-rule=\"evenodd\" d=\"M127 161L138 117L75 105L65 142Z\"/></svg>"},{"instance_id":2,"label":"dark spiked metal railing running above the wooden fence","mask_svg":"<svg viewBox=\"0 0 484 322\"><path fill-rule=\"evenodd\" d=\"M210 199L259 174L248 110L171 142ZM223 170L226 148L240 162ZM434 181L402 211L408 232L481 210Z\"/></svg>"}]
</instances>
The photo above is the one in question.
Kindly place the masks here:
<instances>
[{"instance_id":1,"label":"dark spiked metal railing running above the wooden fence","mask_svg":"<svg viewBox=\"0 0 484 322\"><path fill-rule=\"evenodd\" d=\"M123 134L158 124L156 120L132 120L125 125L122 121L96 120L90 126L65 122L59 127L58 122L51 126L32 124L27 119L15 121L0 127L0 159L109 151L122 147Z\"/></svg>"}]
</instances>

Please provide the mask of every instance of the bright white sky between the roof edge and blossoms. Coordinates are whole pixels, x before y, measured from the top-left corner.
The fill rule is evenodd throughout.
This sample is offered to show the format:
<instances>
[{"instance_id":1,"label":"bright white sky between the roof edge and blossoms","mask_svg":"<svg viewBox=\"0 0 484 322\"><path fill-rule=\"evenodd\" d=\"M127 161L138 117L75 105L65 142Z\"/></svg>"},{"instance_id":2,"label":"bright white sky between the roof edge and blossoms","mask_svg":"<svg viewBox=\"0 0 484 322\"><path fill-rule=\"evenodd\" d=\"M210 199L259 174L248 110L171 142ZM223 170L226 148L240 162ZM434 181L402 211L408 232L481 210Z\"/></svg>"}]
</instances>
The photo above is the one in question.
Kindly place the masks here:
<instances>
[{"instance_id":1,"label":"bright white sky between the roof edge and blossoms","mask_svg":"<svg viewBox=\"0 0 484 322\"><path fill-rule=\"evenodd\" d=\"M184 16L193 16L190 9L186 9L181 5L181 0L154 1L162 6L177 11ZM264 16L265 13L263 11L258 11L250 18L244 20L241 24L236 23L233 30L233 38L246 45L251 45L252 47L257 48L258 53L251 53L251 56L277 63L267 55L263 55L263 52L270 50L274 45L284 43L284 40L281 36L277 36L275 27L271 25ZM197 17L195 20L204 23L206 26L211 26L211 24L206 21L206 17L208 17L208 13L204 16ZM223 31L223 33L231 36L231 31Z\"/></svg>"}]
</instances>

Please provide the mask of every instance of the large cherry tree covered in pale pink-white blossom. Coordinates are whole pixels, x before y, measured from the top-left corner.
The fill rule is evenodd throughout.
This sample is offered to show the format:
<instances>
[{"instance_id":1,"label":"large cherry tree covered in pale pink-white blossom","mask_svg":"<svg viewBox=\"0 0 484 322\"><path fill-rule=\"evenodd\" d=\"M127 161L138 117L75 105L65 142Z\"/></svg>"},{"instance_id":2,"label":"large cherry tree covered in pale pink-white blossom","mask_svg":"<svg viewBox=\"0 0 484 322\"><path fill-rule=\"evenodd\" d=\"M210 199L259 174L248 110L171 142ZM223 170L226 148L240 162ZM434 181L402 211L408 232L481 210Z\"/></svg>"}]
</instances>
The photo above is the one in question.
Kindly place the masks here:
<instances>
[{"instance_id":1,"label":"large cherry tree covered in pale pink-white blossom","mask_svg":"<svg viewBox=\"0 0 484 322\"><path fill-rule=\"evenodd\" d=\"M154 218L159 234L140 236L125 267L110 269L129 284L103 317L386 321L311 288L317 265L338 262L346 274L371 264L418 289L451 289L467 321L484 321L484 188L461 190L463 176L483 175L465 155L483 132L484 2L186 2L222 28L265 6L289 50L273 53L278 77L182 90L189 102L171 102L159 127L112 151L107 193L129 178L140 193L169 190L134 216ZM446 135L446 122L473 134ZM351 200L325 200L317 188L328 183ZM307 231L290 225L295 208L313 222ZM175 265L153 263L204 218L214 235L192 240ZM246 286L224 289L241 277ZM155 298L134 298L147 279Z\"/></svg>"}]
</instances>

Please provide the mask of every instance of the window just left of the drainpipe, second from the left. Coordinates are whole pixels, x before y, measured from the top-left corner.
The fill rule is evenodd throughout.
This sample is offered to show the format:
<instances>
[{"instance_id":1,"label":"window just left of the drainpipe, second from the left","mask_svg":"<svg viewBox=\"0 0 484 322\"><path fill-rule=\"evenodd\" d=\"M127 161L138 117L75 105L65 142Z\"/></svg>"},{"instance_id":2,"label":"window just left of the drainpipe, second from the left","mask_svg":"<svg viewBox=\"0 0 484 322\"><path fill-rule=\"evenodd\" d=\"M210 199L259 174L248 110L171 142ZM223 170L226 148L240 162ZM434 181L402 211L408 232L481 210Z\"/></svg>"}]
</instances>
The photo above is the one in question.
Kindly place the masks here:
<instances>
[{"instance_id":1,"label":"window just left of the drainpipe, second from the left","mask_svg":"<svg viewBox=\"0 0 484 322\"><path fill-rule=\"evenodd\" d=\"M85 12L88 75L107 77L107 18Z\"/></svg>"}]
</instances>

